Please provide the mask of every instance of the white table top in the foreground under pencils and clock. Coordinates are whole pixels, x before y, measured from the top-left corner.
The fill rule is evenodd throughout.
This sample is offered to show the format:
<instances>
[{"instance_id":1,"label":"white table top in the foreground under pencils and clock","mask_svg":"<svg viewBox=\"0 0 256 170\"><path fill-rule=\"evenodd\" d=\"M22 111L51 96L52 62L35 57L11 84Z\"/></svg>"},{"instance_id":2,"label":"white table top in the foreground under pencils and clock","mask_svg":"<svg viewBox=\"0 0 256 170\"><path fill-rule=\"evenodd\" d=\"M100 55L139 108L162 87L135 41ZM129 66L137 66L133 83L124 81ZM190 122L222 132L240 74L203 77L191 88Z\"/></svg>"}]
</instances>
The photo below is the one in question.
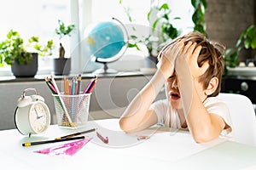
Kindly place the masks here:
<instances>
[{"instance_id":1,"label":"white table top in the foreground under pencils and clock","mask_svg":"<svg viewBox=\"0 0 256 170\"><path fill-rule=\"evenodd\" d=\"M118 119L90 121L79 129L96 127L109 143L104 144L96 133L88 144L72 157L48 156L34 150L63 144L40 144L22 147L28 141L55 139L75 130L51 125L46 133L31 139L17 129L0 131L1 167L8 169L253 169L256 168L256 147L237 144L227 139L215 139L207 144L196 144L185 131L151 128L137 134L125 134L119 129ZM137 135L150 138L137 140ZM69 141L70 142L70 141ZM68 143L68 142L66 142Z\"/></svg>"}]
</instances>

